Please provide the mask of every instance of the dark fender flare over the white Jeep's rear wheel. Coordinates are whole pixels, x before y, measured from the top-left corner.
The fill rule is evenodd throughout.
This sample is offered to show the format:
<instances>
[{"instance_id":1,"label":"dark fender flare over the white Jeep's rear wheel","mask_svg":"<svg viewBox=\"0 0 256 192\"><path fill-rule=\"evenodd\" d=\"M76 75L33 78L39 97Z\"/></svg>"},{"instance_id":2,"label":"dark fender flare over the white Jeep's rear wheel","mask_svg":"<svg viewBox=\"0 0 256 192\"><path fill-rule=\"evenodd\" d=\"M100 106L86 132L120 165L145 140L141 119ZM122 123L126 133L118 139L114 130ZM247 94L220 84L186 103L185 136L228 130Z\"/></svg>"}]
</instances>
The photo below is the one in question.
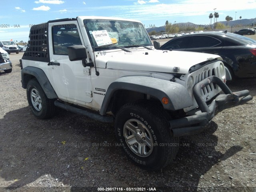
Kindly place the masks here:
<instances>
[{"instance_id":1,"label":"dark fender flare over the white Jeep's rear wheel","mask_svg":"<svg viewBox=\"0 0 256 192\"><path fill-rule=\"evenodd\" d=\"M44 71L37 67L28 66L21 70L22 88L26 89L28 81L30 80L30 78L26 77L26 74L34 76L38 80L47 98L49 99L58 98L56 92L54 91L54 88L52 87Z\"/></svg>"}]
</instances>

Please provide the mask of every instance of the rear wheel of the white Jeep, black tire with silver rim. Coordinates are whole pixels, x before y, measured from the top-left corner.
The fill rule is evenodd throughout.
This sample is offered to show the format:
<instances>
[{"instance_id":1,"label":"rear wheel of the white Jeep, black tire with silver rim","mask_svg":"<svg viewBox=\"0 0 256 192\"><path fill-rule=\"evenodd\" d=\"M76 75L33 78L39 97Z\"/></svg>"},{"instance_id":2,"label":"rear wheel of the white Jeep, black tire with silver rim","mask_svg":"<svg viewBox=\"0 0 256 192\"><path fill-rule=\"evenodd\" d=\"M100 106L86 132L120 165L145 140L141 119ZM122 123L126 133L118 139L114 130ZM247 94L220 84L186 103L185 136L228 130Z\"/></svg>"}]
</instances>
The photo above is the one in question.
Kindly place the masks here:
<instances>
[{"instance_id":1,"label":"rear wheel of the white Jeep, black tire with silver rim","mask_svg":"<svg viewBox=\"0 0 256 192\"><path fill-rule=\"evenodd\" d=\"M27 85L27 99L30 110L40 119L46 119L54 116L56 106L55 99L48 99L44 90L36 79L31 79ZM34 101L34 104L33 102Z\"/></svg>"}]
</instances>

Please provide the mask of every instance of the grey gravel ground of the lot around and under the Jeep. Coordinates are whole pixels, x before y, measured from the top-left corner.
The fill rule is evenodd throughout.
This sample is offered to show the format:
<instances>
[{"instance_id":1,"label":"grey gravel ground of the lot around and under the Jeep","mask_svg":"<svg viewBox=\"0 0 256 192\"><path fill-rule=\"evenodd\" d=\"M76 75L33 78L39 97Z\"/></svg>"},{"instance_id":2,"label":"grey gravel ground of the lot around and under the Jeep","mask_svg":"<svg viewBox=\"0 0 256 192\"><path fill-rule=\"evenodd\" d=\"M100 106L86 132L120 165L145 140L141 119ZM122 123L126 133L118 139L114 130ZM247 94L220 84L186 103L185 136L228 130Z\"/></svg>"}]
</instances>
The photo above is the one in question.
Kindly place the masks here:
<instances>
[{"instance_id":1,"label":"grey gravel ground of the lot around and under the Jeep","mask_svg":"<svg viewBox=\"0 0 256 192\"><path fill-rule=\"evenodd\" d=\"M20 83L21 57L11 54L13 71L0 72L0 192L256 192L256 79L229 84L232 91L250 90L253 100L221 112L201 134L180 138L174 162L148 172L116 145L113 124L61 109L54 118L35 118Z\"/></svg>"}]
</instances>

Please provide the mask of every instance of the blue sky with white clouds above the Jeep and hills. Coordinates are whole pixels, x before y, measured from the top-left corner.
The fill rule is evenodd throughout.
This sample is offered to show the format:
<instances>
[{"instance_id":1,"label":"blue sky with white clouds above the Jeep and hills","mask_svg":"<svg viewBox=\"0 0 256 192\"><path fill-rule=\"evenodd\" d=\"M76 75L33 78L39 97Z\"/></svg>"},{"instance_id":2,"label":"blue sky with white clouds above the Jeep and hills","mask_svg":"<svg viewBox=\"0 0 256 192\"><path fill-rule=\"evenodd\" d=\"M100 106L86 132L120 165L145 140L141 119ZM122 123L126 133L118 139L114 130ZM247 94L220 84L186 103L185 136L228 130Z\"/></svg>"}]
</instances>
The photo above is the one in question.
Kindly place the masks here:
<instances>
[{"instance_id":1,"label":"blue sky with white clouds above the Jeep and hills","mask_svg":"<svg viewBox=\"0 0 256 192\"><path fill-rule=\"evenodd\" d=\"M256 0L11 0L1 1L1 40L28 41L32 24L76 16L114 16L140 20L146 28L169 23L210 24L210 13L233 20L256 18ZM213 19L212 19L213 22Z\"/></svg>"}]
</instances>

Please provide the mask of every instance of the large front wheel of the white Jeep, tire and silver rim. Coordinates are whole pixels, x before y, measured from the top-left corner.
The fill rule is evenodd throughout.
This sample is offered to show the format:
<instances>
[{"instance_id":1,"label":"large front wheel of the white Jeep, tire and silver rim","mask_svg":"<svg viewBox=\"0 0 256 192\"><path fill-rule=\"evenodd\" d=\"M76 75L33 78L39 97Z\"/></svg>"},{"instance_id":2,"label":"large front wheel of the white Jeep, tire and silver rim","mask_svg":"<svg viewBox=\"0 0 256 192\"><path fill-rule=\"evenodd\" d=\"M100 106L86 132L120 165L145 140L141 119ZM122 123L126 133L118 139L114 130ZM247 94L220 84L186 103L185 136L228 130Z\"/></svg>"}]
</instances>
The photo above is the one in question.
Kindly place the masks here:
<instances>
[{"instance_id":1,"label":"large front wheel of the white Jeep, tire and silver rim","mask_svg":"<svg viewBox=\"0 0 256 192\"><path fill-rule=\"evenodd\" d=\"M116 114L115 132L126 156L146 170L159 170L176 157L179 138L171 136L168 115L149 102L125 104Z\"/></svg>"}]
</instances>

